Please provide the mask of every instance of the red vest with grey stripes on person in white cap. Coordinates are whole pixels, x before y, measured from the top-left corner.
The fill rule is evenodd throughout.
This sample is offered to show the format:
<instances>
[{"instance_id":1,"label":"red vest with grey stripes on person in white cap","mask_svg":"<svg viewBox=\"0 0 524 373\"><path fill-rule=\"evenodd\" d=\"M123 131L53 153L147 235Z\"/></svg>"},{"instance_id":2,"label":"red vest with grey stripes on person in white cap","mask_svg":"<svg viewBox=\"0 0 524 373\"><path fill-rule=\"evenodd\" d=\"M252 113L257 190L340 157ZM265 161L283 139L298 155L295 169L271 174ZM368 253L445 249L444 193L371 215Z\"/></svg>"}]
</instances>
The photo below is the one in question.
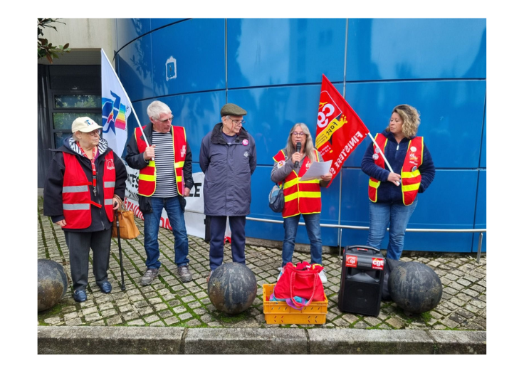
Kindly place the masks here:
<instances>
[{"instance_id":1,"label":"red vest with grey stripes on person in white cap","mask_svg":"<svg viewBox=\"0 0 524 373\"><path fill-rule=\"evenodd\" d=\"M83 229L91 225L91 205L102 207L91 201L89 186L92 185L75 155L63 153L66 170L63 175L62 209L66 228ZM112 196L115 194L115 159L112 151L105 156L103 177L104 208L109 221L113 219Z\"/></svg>"}]
</instances>

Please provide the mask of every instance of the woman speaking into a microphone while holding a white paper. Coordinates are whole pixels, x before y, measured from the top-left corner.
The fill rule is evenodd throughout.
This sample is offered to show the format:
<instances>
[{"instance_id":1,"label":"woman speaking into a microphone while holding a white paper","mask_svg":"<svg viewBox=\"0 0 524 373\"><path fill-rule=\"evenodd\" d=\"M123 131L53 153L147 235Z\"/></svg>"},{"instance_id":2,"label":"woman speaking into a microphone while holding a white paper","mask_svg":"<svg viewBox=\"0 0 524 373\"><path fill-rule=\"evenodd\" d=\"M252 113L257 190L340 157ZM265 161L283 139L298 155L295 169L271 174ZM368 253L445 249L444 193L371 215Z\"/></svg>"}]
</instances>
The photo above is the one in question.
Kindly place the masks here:
<instances>
[{"instance_id":1,"label":"woman speaking into a microphone while holding a white paper","mask_svg":"<svg viewBox=\"0 0 524 373\"><path fill-rule=\"evenodd\" d=\"M304 123L297 123L291 128L288 143L275 157L271 171L271 180L281 185L285 197L282 216L284 218L284 241L282 246L282 268L293 260L295 237L297 235L300 214L305 222L305 229L311 246L311 264L322 265L322 238L320 237L320 187L330 183L332 175L328 172L322 180L300 182L300 177L308 171L313 162L322 162L322 156L315 147L311 133ZM282 274L282 268L280 278ZM324 270L320 279L327 282Z\"/></svg>"}]
</instances>

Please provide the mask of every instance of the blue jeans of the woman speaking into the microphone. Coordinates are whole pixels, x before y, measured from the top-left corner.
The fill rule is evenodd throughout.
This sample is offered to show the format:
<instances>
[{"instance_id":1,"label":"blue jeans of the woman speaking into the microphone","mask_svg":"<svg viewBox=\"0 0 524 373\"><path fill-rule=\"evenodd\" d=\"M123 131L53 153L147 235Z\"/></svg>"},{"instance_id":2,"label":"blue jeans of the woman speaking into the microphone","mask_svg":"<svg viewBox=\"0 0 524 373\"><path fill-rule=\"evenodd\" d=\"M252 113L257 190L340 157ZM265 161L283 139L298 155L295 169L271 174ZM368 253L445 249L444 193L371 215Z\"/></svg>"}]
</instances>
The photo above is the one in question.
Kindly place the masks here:
<instances>
[{"instance_id":1,"label":"blue jeans of the woman speaking into the microphone","mask_svg":"<svg viewBox=\"0 0 524 373\"><path fill-rule=\"evenodd\" d=\"M305 230L308 231L311 264L322 264L322 238L320 237L320 214L303 214ZM297 236L300 214L284 218L284 242L282 245L282 266L293 262L295 237Z\"/></svg>"}]
</instances>

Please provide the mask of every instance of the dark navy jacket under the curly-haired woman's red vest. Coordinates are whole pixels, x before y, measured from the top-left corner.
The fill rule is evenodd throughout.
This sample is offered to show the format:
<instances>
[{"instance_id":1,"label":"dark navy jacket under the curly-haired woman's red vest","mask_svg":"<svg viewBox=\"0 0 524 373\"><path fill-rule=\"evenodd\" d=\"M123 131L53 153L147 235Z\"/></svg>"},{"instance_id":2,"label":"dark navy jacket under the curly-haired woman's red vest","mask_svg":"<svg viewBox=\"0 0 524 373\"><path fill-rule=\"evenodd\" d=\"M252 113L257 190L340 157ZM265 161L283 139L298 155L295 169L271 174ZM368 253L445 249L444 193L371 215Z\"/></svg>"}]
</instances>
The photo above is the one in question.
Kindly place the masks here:
<instances>
[{"instance_id":1,"label":"dark navy jacket under the curly-haired woman's red vest","mask_svg":"<svg viewBox=\"0 0 524 373\"><path fill-rule=\"evenodd\" d=\"M383 131L382 135L387 137L386 149L384 150L384 155L386 156L387 161L391 165L393 172L395 174L402 174L402 165L404 164L404 159L406 158L407 146L409 145L409 140L404 137L402 141L397 144L394 135L391 132ZM377 202L389 203L389 202L401 202L402 203L402 187L396 186L392 182L387 181L389 175L389 168L387 164L384 164L384 169L378 167L373 160L373 143L367 147L367 150L362 158L362 171L370 177L374 177L379 180L380 186L377 190ZM380 157L380 155L379 155ZM433 164L433 159L431 159L431 154L424 140L424 153L422 154L422 164L419 167L419 172L421 174L421 181L419 187L419 193L424 193L424 191L429 187L429 184L433 182L435 177L435 165Z\"/></svg>"}]
</instances>

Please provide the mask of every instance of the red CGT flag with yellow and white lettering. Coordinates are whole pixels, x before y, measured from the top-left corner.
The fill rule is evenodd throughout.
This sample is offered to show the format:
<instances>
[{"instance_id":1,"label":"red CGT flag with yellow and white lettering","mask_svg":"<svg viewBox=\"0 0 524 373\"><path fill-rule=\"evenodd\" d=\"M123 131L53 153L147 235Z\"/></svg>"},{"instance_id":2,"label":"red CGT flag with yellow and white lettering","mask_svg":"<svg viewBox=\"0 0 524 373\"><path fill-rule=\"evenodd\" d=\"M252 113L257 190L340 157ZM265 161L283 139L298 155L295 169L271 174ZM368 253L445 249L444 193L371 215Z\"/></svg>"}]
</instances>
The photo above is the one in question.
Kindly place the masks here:
<instances>
[{"instance_id":1,"label":"red CGT flag with yellow and white lettering","mask_svg":"<svg viewBox=\"0 0 524 373\"><path fill-rule=\"evenodd\" d=\"M332 161L332 182L347 157L362 143L370 130L324 74L320 91L315 146L324 161Z\"/></svg>"}]
</instances>

